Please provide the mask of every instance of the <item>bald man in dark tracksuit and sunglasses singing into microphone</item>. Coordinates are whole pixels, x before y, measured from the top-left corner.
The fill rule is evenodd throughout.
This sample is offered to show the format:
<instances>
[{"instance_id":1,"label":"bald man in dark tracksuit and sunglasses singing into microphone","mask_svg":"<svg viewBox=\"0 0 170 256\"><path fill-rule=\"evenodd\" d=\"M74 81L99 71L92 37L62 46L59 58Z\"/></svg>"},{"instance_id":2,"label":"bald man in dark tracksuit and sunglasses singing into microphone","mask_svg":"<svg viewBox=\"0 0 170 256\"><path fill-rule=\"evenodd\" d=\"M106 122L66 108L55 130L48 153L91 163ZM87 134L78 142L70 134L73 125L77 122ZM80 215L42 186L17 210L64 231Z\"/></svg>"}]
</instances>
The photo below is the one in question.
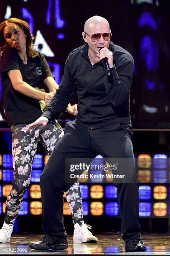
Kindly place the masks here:
<instances>
[{"instance_id":1,"label":"bald man in dark tracksuit and sunglasses singing into microphone","mask_svg":"<svg viewBox=\"0 0 170 256\"><path fill-rule=\"evenodd\" d=\"M115 182L125 250L146 251L140 234L139 192L129 115L134 61L126 50L110 41L112 34L105 18L89 18L82 36L85 45L69 54L56 95L44 114L28 127L30 130L46 126L58 118L67 108L74 91L77 91L76 120L66 123L65 135L56 144L40 177L45 236L29 246L37 250L67 248L63 191L67 191L71 184L66 183L70 173L66 169L65 175L65 161L72 159L73 164L78 161L76 159L82 159L82 162L88 163L89 158L94 159L100 154L109 164L114 163L113 159L117 159L117 163L120 159L118 174L127 177L125 181L116 179ZM81 168L77 172L74 169L74 174L82 172ZM75 176L72 177L70 183L76 181Z\"/></svg>"}]
</instances>

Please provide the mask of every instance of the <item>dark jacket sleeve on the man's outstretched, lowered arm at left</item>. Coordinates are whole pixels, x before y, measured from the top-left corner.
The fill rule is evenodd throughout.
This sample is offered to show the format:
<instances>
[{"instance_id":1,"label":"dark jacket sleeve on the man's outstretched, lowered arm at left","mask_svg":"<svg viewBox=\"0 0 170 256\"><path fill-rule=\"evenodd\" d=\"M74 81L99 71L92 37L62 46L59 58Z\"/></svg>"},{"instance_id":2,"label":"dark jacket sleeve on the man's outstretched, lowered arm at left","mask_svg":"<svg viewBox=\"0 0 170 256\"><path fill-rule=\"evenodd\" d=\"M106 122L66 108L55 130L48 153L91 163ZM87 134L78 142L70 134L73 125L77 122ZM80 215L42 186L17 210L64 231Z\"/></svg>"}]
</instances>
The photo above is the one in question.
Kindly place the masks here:
<instances>
[{"instance_id":1,"label":"dark jacket sleeve on the man's outstretched, lowered arm at left","mask_svg":"<svg viewBox=\"0 0 170 256\"><path fill-rule=\"evenodd\" d=\"M63 110L67 108L72 97L74 96L76 86L74 85L73 78L69 72L69 62L68 57L59 88L42 115L46 116L49 121L58 118L62 114Z\"/></svg>"}]
</instances>

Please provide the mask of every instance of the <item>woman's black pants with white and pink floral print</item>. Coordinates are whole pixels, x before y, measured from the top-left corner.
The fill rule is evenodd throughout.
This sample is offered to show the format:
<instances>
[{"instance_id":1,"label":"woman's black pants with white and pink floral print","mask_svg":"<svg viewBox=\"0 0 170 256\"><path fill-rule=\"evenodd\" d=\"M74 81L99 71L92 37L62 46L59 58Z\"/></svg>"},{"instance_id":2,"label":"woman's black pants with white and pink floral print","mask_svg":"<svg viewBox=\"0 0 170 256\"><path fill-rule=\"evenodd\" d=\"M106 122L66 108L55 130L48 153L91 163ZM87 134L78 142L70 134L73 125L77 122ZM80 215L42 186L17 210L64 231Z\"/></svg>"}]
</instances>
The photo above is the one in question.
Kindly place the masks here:
<instances>
[{"instance_id":1,"label":"woman's black pants with white and pink floral print","mask_svg":"<svg viewBox=\"0 0 170 256\"><path fill-rule=\"evenodd\" d=\"M40 141L47 154L51 154L58 140L64 132L61 126L55 121L48 123L46 127L34 128L26 132L28 124L12 125L12 147L13 147L13 187L7 197L5 208L5 223L14 223L23 196L30 184L32 163L37 150L37 143ZM74 183L66 192L66 199L69 203L73 222L83 223L83 211L80 184Z\"/></svg>"}]
</instances>

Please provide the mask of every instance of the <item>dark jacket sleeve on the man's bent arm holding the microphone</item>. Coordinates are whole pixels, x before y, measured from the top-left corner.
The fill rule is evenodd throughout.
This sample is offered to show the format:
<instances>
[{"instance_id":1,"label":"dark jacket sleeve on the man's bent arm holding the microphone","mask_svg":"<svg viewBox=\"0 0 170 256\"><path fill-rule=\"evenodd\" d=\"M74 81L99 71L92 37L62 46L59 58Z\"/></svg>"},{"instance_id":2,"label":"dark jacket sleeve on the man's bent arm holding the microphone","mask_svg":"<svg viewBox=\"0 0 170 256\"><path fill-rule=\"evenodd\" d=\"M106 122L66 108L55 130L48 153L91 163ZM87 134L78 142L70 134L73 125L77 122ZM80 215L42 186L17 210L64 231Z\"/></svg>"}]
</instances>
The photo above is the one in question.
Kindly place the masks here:
<instances>
[{"instance_id":1,"label":"dark jacket sleeve on the man's bent arm holding the microphone","mask_svg":"<svg viewBox=\"0 0 170 256\"><path fill-rule=\"evenodd\" d=\"M114 107L119 107L129 100L133 70L134 60L130 54L128 58L121 56L115 67L110 69L111 77L107 78L105 88Z\"/></svg>"}]
</instances>

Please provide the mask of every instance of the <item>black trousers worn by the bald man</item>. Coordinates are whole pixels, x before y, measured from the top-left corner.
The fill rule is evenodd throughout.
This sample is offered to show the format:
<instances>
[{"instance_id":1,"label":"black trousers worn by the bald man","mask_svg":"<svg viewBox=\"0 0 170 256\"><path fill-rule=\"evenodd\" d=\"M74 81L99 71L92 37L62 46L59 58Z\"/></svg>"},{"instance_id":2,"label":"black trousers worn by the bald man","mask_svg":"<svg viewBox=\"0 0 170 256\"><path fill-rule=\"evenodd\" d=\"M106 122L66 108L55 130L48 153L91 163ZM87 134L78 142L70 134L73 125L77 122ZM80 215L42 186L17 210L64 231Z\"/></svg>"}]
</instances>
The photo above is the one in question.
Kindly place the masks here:
<instances>
[{"instance_id":1,"label":"black trousers worn by the bald man","mask_svg":"<svg viewBox=\"0 0 170 256\"><path fill-rule=\"evenodd\" d=\"M131 159L126 169L135 175L131 138L120 123L92 126L84 125L79 120L66 123L65 135L53 149L40 177L43 231L46 235L66 236L63 225L63 191L67 191L71 184L65 182L65 159L95 158L98 154L104 159ZM138 182L115 185L122 215L122 238L124 241L140 239Z\"/></svg>"}]
</instances>

